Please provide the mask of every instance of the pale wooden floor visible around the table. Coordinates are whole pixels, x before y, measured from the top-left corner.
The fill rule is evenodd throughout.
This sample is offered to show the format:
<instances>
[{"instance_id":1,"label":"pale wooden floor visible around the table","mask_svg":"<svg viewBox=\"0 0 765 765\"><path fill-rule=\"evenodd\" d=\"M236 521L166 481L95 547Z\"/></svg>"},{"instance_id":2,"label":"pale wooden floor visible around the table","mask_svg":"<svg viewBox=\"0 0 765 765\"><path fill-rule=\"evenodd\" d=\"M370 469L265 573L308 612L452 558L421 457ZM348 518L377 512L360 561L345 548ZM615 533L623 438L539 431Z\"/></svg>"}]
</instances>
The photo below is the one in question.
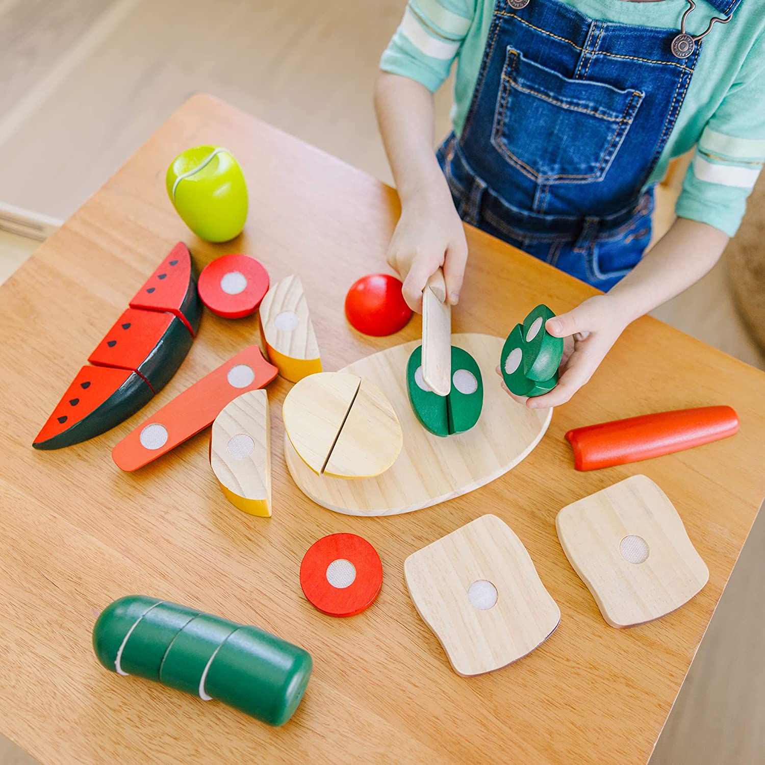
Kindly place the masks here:
<instances>
[{"instance_id":1,"label":"pale wooden floor visible around the table","mask_svg":"<svg viewBox=\"0 0 765 765\"><path fill-rule=\"evenodd\" d=\"M371 93L403 5L0 0L0 201L66 218L197 92L220 96L390 181ZM439 136L448 131L449 104L444 89ZM163 174L158 168L158 183ZM659 220L671 210L671 200L659 200ZM0 234L0 279L32 249L34 243ZM655 314L765 368L737 317L724 262ZM763 548L760 518L652 765L765 761ZM30 762L0 738L0 765Z\"/></svg>"}]
</instances>

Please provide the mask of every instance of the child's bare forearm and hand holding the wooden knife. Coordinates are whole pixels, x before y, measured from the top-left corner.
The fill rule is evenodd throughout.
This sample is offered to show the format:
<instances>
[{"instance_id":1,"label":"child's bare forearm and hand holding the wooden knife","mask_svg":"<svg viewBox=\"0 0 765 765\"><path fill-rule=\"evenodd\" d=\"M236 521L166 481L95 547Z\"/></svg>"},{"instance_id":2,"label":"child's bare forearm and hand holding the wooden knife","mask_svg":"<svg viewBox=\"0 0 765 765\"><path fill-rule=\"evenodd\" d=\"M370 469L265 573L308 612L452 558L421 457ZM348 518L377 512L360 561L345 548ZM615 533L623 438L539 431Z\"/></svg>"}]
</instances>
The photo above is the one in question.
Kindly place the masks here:
<instances>
[{"instance_id":1,"label":"child's bare forearm and hand holding the wooden knife","mask_svg":"<svg viewBox=\"0 0 765 765\"><path fill-rule=\"evenodd\" d=\"M375 107L401 198L401 217L390 242L388 262L404 280L405 301L415 311L422 311L422 290L439 266L444 267L448 299L455 304L467 243L433 151L433 94L408 77L381 72Z\"/></svg>"}]
</instances>

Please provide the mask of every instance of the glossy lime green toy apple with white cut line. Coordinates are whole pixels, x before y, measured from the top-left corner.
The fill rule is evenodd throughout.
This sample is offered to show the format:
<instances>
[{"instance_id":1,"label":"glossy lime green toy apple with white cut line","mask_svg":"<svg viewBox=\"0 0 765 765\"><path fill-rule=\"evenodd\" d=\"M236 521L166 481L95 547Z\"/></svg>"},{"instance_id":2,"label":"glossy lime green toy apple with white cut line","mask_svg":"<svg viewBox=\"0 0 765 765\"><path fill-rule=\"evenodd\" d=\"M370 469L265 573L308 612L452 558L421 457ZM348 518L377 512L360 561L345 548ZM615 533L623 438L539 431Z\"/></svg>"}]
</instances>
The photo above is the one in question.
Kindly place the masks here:
<instances>
[{"instance_id":1,"label":"glossy lime green toy apple with white cut line","mask_svg":"<svg viewBox=\"0 0 765 765\"><path fill-rule=\"evenodd\" d=\"M187 148L165 179L175 210L200 239L228 242L247 220L247 184L234 155L220 146Z\"/></svg>"}]
</instances>

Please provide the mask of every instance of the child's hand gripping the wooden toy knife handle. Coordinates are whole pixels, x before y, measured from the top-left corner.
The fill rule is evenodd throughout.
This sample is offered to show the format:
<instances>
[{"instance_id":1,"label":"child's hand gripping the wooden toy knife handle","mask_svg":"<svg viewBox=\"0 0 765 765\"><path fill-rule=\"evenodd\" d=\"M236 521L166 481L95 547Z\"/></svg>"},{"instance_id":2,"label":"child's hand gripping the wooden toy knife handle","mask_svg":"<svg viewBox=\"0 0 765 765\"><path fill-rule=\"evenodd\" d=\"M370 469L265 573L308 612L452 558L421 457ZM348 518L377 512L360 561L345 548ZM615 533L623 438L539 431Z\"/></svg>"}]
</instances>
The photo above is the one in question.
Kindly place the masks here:
<instances>
[{"instance_id":1,"label":"child's hand gripping the wooden toy knife handle","mask_svg":"<svg viewBox=\"0 0 765 765\"><path fill-rule=\"evenodd\" d=\"M451 195L422 197L402 207L390 240L388 263L399 272L404 300L412 311L422 313L422 290L440 266L444 268L447 299L457 304L466 262L465 230Z\"/></svg>"}]
</instances>

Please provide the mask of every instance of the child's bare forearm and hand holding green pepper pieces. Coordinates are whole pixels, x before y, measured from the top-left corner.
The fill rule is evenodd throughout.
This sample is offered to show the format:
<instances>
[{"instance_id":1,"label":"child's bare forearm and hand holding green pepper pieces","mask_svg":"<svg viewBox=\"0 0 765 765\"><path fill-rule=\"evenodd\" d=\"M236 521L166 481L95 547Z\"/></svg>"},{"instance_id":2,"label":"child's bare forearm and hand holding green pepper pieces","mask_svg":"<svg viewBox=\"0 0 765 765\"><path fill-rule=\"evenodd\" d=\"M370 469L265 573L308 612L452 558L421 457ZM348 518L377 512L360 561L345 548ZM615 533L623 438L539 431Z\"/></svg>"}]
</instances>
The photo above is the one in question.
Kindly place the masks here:
<instances>
[{"instance_id":1,"label":"child's bare forearm and hand holding green pepper pieces","mask_svg":"<svg viewBox=\"0 0 765 765\"><path fill-rule=\"evenodd\" d=\"M589 298L573 311L549 319L545 327L550 334L567 339L572 336L573 342L568 341L565 347L558 385L544 396L526 399L526 405L539 409L571 399L591 378L627 324L698 282L718 262L728 240L728 235L715 226L678 218L607 295Z\"/></svg>"}]
</instances>

